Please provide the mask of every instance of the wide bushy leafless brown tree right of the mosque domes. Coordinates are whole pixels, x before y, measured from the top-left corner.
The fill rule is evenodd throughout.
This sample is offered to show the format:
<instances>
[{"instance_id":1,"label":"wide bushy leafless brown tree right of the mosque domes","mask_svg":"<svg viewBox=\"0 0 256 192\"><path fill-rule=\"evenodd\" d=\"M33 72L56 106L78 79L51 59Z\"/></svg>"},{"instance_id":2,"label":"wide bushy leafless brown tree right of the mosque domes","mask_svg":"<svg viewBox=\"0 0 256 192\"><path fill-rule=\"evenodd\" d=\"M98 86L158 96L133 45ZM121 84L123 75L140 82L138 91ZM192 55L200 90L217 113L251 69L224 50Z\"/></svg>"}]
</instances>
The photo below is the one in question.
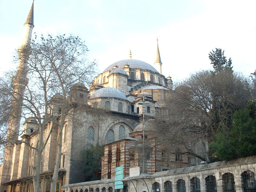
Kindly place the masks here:
<instances>
[{"instance_id":1,"label":"wide bushy leafless brown tree right of the mosque domes","mask_svg":"<svg viewBox=\"0 0 256 192\"><path fill-rule=\"evenodd\" d=\"M232 70L201 71L176 85L166 107L156 116L156 138L168 151L182 148L206 160L208 141L229 131L235 110L250 98L248 80Z\"/></svg>"}]
</instances>

